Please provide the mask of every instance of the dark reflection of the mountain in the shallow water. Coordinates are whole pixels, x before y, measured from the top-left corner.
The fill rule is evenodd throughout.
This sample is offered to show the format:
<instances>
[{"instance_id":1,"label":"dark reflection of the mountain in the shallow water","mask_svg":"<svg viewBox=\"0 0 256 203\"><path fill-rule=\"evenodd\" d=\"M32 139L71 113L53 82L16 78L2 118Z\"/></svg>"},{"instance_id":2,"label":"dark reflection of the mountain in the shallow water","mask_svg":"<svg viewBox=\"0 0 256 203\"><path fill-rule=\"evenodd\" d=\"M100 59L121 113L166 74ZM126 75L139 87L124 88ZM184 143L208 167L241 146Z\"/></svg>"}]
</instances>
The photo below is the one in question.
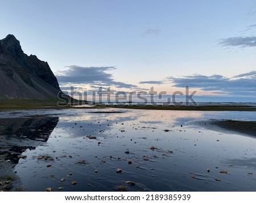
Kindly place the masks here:
<instances>
[{"instance_id":1,"label":"dark reflection of the mountain in the shallow water","mask_svg":"<svg viewBox=\"0 0 256 203\"><path fill-rule=\"evenodd\" d=\"M20 117L0 120L0 159L17 164L26 149L47 142L59 117Z\"/></svg>"}]
</instances>

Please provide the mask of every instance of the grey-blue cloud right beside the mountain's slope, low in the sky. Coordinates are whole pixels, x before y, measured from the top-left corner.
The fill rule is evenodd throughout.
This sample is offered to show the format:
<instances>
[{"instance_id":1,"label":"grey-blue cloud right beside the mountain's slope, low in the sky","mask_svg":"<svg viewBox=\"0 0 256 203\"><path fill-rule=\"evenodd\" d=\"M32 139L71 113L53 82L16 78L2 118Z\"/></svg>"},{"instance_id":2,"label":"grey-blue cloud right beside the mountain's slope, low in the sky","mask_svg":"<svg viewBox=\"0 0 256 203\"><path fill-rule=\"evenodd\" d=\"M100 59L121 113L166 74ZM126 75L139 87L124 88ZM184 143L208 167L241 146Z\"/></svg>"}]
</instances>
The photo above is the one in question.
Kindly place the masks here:
<instances>
[{"instance_id":1,"label":"grey-blue cloud right beside the mountain's slope, low in the sky","mask_svg":"<svg viewBox=\"0 0 256 203\"><path fill-rule=\"evenodd\" d=\"M100 86L116 86L124 88L137 88L134 84L114 81L113 75L106 71L116 69L113 66L106 67L81 67L67 66L69 69L59 71L55 75L60 83L80 83Z\"/></svg>"}]
</instances>

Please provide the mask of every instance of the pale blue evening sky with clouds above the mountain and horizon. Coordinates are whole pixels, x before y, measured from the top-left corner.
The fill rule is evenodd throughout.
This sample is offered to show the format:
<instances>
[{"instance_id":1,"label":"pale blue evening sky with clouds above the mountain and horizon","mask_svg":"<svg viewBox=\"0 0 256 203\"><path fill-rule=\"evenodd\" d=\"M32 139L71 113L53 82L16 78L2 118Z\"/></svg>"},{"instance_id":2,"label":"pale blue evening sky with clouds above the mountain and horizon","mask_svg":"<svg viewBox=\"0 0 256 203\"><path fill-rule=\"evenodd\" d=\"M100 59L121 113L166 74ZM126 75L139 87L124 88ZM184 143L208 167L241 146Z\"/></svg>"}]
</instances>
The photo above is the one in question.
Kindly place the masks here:
<instances>
[{"instance_id":1,"label":"pale blue evening sky with clouds above the mountain and horizon","mask_svg":"<svg viewBox=\"0 0 256 203\"><path fill-rule=\"evenodd\" d=\"M0 1L0 38L47 61L63 91L196 91L256 102L255 0Z\"/></svg>"}]
</instances>

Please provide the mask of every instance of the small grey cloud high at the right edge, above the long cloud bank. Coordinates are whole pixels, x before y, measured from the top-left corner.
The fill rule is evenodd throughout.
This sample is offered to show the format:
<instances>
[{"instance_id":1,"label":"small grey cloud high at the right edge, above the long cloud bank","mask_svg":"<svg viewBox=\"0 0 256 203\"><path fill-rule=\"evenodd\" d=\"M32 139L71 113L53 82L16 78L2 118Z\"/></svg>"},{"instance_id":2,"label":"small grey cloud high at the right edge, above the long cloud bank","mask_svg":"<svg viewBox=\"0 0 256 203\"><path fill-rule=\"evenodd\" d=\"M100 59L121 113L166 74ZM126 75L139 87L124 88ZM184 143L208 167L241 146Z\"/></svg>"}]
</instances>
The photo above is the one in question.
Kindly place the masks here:
<instances>
[{"instance_id":1,"label":"small grey cloud high at the right edge, above the long cloud bank","mask_svg":"<svg viewBox=\"0 0 256 203\"><path fill-rule=\"evenodd\" d=\"M246 46L256 46L256 36L250 37L228 37L225 39L220 40L220 44L222 46L239 46L239 47L246 47Z\"/></svg>"}]
</instances>

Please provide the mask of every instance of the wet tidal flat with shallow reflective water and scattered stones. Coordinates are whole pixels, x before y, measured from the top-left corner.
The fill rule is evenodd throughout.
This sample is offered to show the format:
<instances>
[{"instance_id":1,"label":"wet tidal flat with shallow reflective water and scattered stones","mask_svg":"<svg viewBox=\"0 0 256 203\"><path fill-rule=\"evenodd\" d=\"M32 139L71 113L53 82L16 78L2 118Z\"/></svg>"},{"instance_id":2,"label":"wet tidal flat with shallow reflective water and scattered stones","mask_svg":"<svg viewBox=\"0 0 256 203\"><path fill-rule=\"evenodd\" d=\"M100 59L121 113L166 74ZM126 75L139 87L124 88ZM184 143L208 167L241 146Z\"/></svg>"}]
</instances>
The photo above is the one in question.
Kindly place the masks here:
<instances>
[{"instance_id":1,"label":"wet tidal flat with shallow reflective water and scattered stones","mask_svg":"<svg viewBox=\"0 0 256 203\"><path fill-rule=\"evenodd\" d=\"M255 120L255 111L1 111L0 189L256 191Z\"/></svg>"}]
</instances>

